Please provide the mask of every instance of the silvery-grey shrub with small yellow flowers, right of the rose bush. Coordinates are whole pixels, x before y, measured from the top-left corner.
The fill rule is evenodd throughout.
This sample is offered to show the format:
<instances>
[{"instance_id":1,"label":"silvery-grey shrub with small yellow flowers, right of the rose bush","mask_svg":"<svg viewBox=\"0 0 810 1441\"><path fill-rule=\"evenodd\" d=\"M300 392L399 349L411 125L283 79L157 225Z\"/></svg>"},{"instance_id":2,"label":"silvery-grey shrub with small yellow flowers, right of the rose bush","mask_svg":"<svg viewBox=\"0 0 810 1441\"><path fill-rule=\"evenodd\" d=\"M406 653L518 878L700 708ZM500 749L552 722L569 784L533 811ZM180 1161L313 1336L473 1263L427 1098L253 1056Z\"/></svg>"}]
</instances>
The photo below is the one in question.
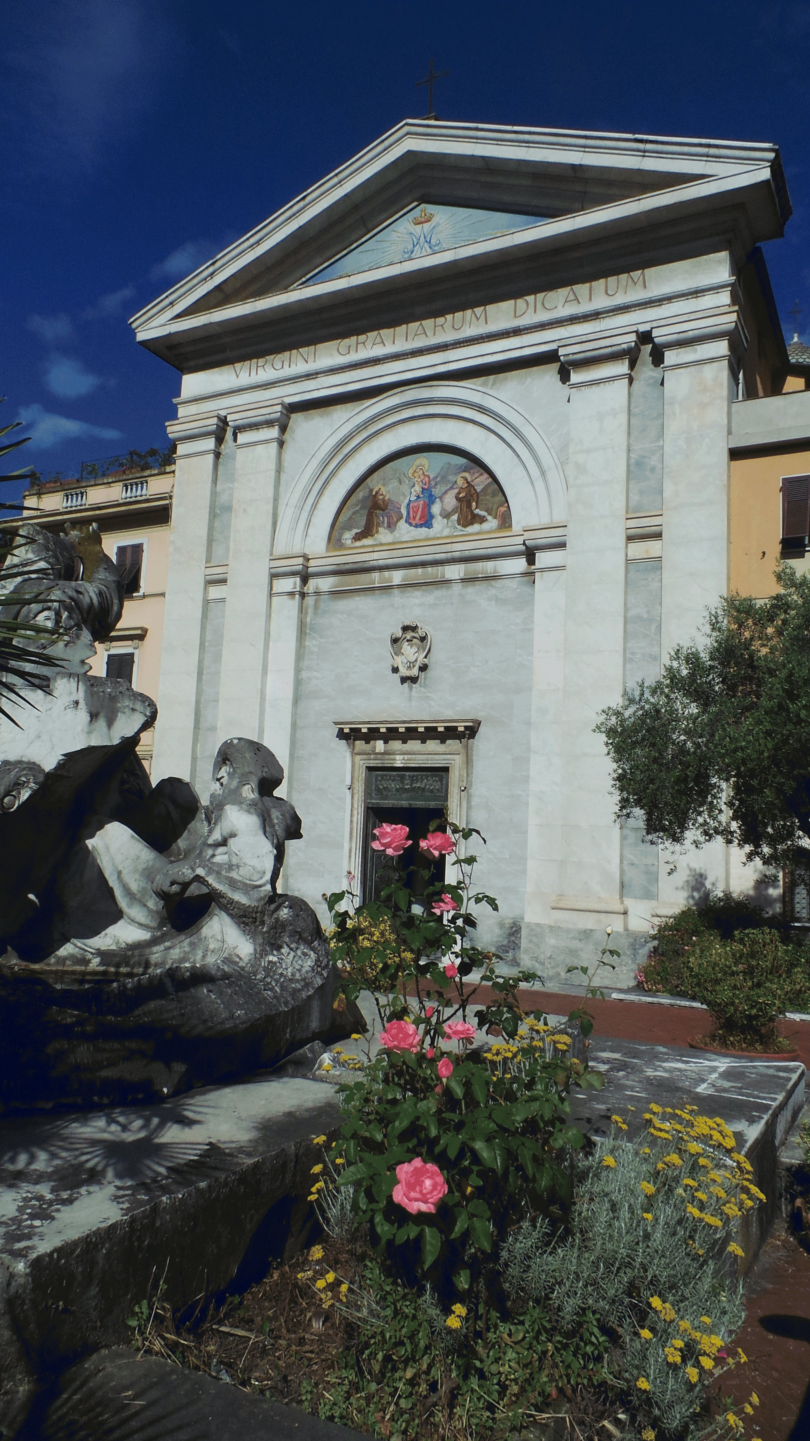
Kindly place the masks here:
<instances>
[{"instance_id":1,"label":"silvery-grey shrub with small yellow flowers, right of the rose bush","mask_svg":"<svg viewBox=\"0 0 810 1441\"><path fill-rule=\"evenodd\" d=\"M744 1306L731 1238L764 1196L719 1118L651 1107L646 1120L640 1140L615 1134L577 1159L566 1228L523 1222L502 1274L512 1304L545 1307L559 1331L587 1307L613 1339L608 1370L634 1419L682 1435L703 1385L734 1363Z\"/></svg>"}]
</instances>

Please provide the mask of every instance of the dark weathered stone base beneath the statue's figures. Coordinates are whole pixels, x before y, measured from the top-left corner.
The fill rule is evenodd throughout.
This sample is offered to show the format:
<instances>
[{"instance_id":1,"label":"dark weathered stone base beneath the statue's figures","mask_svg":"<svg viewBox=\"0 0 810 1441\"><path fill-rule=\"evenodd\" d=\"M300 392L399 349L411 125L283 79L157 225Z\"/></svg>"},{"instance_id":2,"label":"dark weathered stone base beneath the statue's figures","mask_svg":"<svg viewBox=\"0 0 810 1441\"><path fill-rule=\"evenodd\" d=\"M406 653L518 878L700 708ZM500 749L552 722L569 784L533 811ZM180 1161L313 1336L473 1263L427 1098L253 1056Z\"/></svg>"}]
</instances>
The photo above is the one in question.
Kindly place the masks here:
<instances>
[{"instance_id":1,"label":"dark weathered stone base beneath the statue's figures","mask_svg":"<svg viewBox=\"0 0 810 1441\"><path fill-rule=\"evenodd\" d=\"M281 901L317 927L306 902ZM320 928L314 944L326 944ZM3 960L0 1114L150 1104L270 1068L310 1040L340 1040L362 1022L353 1007L333 1009L329 960L326 973L285 1006L229 960L120 977Z\"/></svg>"}]
</instances>

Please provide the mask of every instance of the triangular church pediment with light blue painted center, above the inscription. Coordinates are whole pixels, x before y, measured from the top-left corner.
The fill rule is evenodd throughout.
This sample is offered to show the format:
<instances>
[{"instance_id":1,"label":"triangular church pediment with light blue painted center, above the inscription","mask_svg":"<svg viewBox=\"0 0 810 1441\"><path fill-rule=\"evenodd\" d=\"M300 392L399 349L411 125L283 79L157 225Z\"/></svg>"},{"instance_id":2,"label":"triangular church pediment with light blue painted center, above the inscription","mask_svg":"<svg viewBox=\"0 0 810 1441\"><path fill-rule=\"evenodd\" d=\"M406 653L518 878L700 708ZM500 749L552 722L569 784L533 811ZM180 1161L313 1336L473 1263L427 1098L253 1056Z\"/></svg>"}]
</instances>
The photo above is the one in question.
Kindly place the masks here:
<instances>
[{"instance_id":1,"label":"triangular church pediment with light blue painted center, above the inscription","mask_svg":"<svg viewBox=\"0 0 810 1441\"><path fill-rule=\"evenodd\" d=\"M197 369L340 334L349 310L493 294L493 277L510 282L574 242L582 255L623 235L637 245L640 229L706 229L712 212L726 232L744 216L747 249L781 233L774 146L404 121L131 323L141 344Z\"/></svg>"}]
</instances>

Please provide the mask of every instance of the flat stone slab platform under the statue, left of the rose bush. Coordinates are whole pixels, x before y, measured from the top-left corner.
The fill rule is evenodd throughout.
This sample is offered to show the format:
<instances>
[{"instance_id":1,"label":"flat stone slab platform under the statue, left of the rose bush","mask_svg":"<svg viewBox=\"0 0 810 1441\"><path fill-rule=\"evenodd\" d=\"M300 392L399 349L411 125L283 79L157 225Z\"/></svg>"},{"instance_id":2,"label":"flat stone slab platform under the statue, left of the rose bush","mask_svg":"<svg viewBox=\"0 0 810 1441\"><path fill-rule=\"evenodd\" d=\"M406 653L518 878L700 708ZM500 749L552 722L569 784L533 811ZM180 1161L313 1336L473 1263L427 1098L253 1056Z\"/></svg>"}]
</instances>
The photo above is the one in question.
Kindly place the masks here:
<instances>
[{"instance_id":1,"label":"flat stone slab platform under the statue, left of the rose bush","mask_svg":"<svg viewBox=\"0 0 810 1441\"><path fill-rule=\"evenodd\" d=\"M128 1340L163 1280L174 1308L249 1285L311 1221L311 1137L331 1088L267 1074L159 1107L0 1121L0 1428L33 1389Z\"/></svg>"}]
</instances>

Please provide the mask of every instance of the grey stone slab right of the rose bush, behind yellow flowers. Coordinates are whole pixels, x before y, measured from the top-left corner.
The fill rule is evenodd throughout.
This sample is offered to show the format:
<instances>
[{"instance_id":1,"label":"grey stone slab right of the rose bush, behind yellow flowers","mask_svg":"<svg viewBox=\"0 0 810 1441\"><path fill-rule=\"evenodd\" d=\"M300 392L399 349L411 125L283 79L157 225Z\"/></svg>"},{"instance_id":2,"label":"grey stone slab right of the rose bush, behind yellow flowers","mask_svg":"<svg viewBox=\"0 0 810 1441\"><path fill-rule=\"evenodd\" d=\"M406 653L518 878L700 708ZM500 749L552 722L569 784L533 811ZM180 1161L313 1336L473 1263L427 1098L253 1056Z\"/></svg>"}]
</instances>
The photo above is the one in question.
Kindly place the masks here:
<instances>
[{"instance_id":1,"label":"grey stone slab right of the rose bush, behind yellow flowers","mask_svg":"<svg viewBox=\"0 0 810 1441\"><path fill-rule=\"evenodd\" d=\"M572 1092L574 1117L591 1136L610 1136L611 1115L623 1115L628 1136L644 1128L643 1112L657 1105L696 1105L719 1115L738 1150L754 1167L754 1182L768 1197L741 1222L741 1270L755 1259L781 1205L778 1154L804 1107L804 1066L797 1062L734 1061L679 1046L595 1039L589 1065L605 1078L602 1091ZM628 1111L633 1105L636 1110Z\"/></svg>"}]
</instances>

